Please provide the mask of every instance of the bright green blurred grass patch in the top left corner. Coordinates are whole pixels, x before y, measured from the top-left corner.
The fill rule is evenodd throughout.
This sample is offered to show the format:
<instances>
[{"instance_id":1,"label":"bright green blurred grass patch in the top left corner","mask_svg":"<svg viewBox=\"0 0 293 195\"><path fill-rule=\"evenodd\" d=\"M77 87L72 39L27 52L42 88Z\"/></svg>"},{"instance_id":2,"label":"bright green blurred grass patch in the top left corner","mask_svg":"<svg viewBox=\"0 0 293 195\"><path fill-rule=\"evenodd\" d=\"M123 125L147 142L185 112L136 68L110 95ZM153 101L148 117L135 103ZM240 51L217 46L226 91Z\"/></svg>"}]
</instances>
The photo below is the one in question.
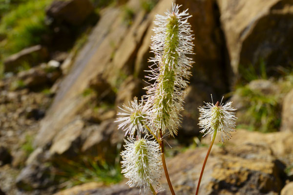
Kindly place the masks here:
<instances>
[{"instance_id":1,"label":"bright green blurred grass patch in the top left corner","mask_svg":"<svg viewBox=\"0 0 293 195\"><path fill-rule=\"evenodd\" d=\"M44 23L44 10L51 1L27 0L3 16L0 34L6 35L5 41L1 42L4 56L42 42L42 35L49 31Z\"/></svg>"}]
</instances>

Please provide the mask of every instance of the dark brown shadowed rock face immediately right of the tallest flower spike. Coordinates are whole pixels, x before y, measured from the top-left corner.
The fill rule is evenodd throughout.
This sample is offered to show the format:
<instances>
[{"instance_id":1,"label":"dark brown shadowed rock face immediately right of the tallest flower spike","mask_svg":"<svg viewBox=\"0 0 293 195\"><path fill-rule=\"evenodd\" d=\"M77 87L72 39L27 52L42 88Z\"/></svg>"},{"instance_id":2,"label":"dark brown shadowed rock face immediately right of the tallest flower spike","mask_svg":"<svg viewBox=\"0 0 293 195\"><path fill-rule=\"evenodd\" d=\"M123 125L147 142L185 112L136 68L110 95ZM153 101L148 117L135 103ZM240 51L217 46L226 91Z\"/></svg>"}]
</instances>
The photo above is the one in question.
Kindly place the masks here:
<instances>
[{"instance_id":1,"label":"dark brown shadowed rock face immediately right of the tallest flower spike","mask_svg":"<svg viewBox=\"0 0 293 195\"><path fill-rule=\"evenodd\" d=\"M194 34L194 53L191 83L204 83L224 94L228 90L230 66L226 66L224 35L219 28L218 10L214 0L176 0L192 15L188 22ZM215 71L211 71L215 70ZM209 94L208 94L209 95ZM208 99L206 99L207 101Z\"/></svg>"}]
</instances>

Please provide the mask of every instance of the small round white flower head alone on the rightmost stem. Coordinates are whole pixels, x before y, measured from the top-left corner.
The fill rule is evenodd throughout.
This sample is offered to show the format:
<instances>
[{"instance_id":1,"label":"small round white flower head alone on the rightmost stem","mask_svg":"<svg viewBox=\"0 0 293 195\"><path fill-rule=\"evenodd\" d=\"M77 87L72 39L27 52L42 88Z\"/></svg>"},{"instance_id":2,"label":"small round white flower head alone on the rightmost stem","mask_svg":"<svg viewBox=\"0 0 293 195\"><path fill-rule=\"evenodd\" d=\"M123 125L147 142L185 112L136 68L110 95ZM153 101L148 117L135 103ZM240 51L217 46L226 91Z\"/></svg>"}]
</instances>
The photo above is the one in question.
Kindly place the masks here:
<instances>
[{"instance_id":1,"label":"small round white flower head alone on the rightmost stem","mask_svg":"<svg viewBox=\"0 0 293 195\"><path fill-rule=\"evenodd\" d=\"M199 107L199 126L203 128L200 132L205 135L210 134L212 137L216 131L221 137L221 142L224 143L225 139L231 138L231 132L235 131L236 109L232 108L232 102L225 105L222 101L221 103L217 101L216 104L205 102L205 104Z\"/></svg>"}]
</instances>

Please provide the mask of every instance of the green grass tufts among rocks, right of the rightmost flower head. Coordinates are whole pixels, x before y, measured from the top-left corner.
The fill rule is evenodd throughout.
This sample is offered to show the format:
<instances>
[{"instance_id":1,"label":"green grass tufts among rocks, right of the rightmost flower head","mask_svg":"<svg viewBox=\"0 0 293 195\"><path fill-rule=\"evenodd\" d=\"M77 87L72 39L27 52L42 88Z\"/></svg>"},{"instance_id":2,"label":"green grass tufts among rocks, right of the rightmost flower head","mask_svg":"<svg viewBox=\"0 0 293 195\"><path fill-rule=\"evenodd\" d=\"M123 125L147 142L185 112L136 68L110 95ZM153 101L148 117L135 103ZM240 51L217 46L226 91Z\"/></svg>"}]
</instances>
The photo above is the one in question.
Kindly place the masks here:
<instances>
[{"instance_id":1,"label":"green grass tufts among rocks, right of the rightmost flower head","mask_svg":"<svg viewBox=\"0 0 293 195\"><path fill-rule=\"evenodd\" d=\"M260 60L255 68L249 65L247 69L240 69L240 74L244 82L251 82L256 79L268 79L266 64ZM238 111L237 128L247 128L251 131L273 132L278 131L281 124L281 103L286 93L293 88L293 68L283 70L284 77L276 79L270 78L273 85L278 89L273 89L269 93L253 90L249 84L236 86L233 94L238 95L243 110ZM242 80L243 82L243 80Z\"/></svg>"}]
</instances>

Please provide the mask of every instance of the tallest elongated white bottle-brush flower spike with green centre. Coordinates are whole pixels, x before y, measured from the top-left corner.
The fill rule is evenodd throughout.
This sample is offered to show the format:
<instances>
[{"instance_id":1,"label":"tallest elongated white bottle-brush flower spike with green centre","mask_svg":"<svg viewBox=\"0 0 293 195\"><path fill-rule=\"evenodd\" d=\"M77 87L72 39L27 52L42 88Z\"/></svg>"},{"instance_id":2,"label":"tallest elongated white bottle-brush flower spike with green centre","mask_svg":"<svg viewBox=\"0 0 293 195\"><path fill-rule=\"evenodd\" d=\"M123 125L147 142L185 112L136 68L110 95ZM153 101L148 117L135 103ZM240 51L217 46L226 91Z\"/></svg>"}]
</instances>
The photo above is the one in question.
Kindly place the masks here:
<instances>
[{"instance_id":1,"label":"tallest elongated white bottle-brush flower spike with green centre","mask_svg":"<svg viewBox=\"0 0 293 195\"><path fill-rule=\"evenodd\" d=\"M163 133L168 129L173 137L180 125L179 112L183 110L183 95L193 63L186 56L193 54L193 35L187 21L191 16L187 10L179 12L180 6L173 4L171 12L156 16L150 46L155 57L149 60L153 65L146 77L153 80L153 84L146 87L146 97L152 103L152 125Z\"/></svg>"}]
</instances>

